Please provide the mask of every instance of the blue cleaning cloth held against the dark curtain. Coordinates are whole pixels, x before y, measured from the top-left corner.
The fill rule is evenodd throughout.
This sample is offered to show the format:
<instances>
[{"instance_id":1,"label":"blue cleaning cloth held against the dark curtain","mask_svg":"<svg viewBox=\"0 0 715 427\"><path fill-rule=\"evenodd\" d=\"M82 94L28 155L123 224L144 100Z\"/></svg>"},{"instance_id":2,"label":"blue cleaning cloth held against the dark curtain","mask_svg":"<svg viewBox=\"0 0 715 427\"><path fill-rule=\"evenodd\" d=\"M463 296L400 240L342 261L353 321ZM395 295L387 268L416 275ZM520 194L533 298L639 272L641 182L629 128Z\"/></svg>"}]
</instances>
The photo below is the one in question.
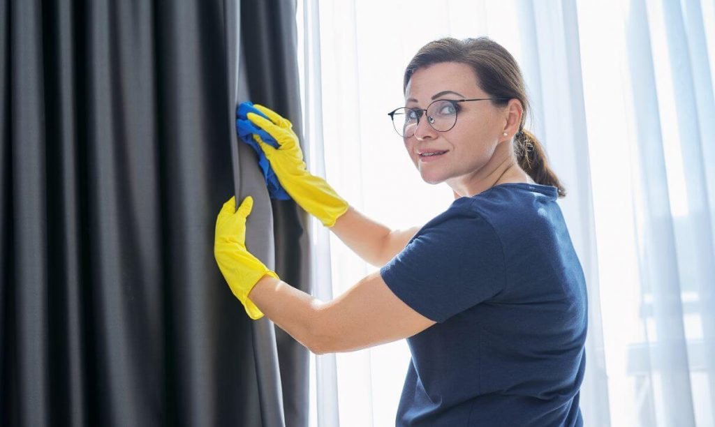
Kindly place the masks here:
<instances>
[{"instance_id":1,"label":"blue cleaning cloth held against the dark curtain","mask_svg":"<svg viewBox=\"0 0 715 427\"><path fill-rule=\"evenodd\" d=\"M270 162L266 159L263 150L258 145L258 143L253 139L253 135L260 136L261 140L272 147L278 148L278 143L273 139L270 134L268 134L263 129L260 129L255 124L248 119L246 114L255 113L260 116L266 117L260 110L253 106L250 101L245 101L236 107L236 131L238 133L238 139L245 142L246 144L253 147L253 150L258 154L258 165L263 171L263 176L266 180L266 186L268 187L268 194L271 199L278 200L288 200L290 196L285 192L285 189L278 182L278 177L275 176L275 172L270 167ZM268 119L270 120L270 119Z\"/></svg>"}]
</instances>

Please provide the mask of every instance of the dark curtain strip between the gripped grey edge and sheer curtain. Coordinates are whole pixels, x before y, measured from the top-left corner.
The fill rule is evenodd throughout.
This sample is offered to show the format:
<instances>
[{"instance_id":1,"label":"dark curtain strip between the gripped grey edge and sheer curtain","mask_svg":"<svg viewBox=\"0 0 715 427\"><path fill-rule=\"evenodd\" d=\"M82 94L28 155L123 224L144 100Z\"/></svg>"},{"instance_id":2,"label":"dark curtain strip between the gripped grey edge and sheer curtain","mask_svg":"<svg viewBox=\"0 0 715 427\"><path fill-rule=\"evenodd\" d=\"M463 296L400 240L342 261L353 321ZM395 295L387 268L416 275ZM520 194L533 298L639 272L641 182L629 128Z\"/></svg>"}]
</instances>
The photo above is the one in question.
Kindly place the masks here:
<instances>
[{"instance_id":1,"label":"dark curtain strip between the gripped grey edge and sheer curtain","mask_svg":"<svg viewBox=\"0 0 715 427\"><path fill-rule=\"evenodd\" d=\"M242 1L241 50L247 88L238 101L262 104L290 120L302 146L302 112L297 69L295 1ZM309 218L292 200L271 200L275 271L311 293ZM309 352L280 328L275 329L283 406L287 426L307 426Z\"/></svg>"}]
</instances>

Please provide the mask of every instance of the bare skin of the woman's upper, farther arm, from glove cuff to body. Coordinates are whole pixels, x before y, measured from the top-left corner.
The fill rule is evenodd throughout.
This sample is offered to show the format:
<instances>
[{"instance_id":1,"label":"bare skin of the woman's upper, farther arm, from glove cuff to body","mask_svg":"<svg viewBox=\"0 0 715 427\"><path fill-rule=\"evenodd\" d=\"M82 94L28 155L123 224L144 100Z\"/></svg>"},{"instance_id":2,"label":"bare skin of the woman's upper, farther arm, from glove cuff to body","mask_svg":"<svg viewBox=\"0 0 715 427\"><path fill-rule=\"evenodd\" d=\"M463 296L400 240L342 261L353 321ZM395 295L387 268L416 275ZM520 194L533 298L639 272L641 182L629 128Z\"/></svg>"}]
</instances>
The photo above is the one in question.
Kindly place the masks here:
<instances>
[{"instance_id":1,"label":"bare skin of the woman's upper, farther arm, from glove cuff to body","mask_svg":"<svg viewBox=\"0 0 715 427\"><path fill-rule=\"evenodd\" d=\"M350 206L345 214L337 218L330 231L342 240L365 262L375 267L384 266L402 251L420 227L405 230L390 230Z\"/></svg>"}]
</instances>

